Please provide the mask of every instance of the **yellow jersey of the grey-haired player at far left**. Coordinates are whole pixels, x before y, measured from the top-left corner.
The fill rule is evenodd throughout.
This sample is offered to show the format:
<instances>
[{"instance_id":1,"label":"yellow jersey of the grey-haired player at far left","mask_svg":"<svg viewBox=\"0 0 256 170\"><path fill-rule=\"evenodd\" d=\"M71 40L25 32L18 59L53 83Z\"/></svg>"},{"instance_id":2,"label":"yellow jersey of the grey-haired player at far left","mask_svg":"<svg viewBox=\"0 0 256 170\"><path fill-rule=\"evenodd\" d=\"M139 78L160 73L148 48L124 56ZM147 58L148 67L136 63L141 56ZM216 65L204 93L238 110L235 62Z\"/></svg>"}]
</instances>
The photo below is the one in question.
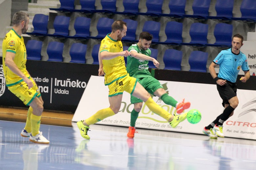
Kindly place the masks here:
<instances>
[{"instance_id":1,"label":"yellow jersey of the grey-haired player at far left","mask_svg":"<svg viewBox=\"0 0 256 170\"><path fill-rule=\"evenodd\" d=\"M11 52L15 54L14 63L17 65L19 70L25 74L27 77L30 77L27 68L27 56L26 56L26 46L24 44L24 39L22 36L19 36L14 29L11 29L5 36L3 40L3 69L6 80L6 86L12 86L23 81L21 77L14 74L6 65L5 58L6 52Z\"/></svg>"}]
</instances>

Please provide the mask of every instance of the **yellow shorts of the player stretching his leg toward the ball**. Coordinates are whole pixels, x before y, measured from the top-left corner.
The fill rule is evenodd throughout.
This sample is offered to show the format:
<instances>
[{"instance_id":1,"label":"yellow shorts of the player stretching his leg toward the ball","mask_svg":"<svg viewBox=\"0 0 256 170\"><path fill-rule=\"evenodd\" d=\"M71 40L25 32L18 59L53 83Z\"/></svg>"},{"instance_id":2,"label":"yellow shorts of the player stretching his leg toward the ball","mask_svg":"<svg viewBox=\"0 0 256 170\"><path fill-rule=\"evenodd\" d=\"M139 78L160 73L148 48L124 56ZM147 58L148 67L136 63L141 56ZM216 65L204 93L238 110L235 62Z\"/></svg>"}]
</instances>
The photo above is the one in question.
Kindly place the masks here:
<instances>
[{"instance_id":1,"label":"yellow shorts of the player stretching his leg toward the ball","mask_svg":"<svg viewBox=\"0 0 256 170\"><path fill-rule=\"evenodd\" d=\"M137 79L134 77L127 76L114 81L112 84L108 85L109 93L108 96L115 96L118 94L123 94L123 91L132 94L135 90Z\"/></svg>"}]
</instances>

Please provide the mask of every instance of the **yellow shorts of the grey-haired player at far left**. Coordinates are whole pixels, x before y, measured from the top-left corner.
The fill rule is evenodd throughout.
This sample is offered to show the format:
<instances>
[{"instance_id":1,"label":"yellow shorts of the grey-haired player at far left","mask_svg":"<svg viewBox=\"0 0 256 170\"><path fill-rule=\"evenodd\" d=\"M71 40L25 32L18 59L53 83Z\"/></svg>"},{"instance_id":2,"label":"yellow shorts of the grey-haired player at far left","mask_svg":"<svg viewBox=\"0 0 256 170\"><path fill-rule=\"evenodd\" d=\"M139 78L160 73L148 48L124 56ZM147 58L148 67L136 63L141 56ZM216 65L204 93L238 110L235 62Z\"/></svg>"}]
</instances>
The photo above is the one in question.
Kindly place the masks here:
<instances>
[{"instance_id":1,"label":"yellow shorts of the grey-haired player at far left","mask_svg":"<svg viewBox=\"0 0 256 170\"><path fill-rule=\"evenodd\" d=\"M33 87L30 89L25 81L8 87L11 93L15 94L26 106L29 106L35 97L41 96L41 93L39 92L34 80L32 78L30 79L33 82Z\"/></svg>"}]
</instances>

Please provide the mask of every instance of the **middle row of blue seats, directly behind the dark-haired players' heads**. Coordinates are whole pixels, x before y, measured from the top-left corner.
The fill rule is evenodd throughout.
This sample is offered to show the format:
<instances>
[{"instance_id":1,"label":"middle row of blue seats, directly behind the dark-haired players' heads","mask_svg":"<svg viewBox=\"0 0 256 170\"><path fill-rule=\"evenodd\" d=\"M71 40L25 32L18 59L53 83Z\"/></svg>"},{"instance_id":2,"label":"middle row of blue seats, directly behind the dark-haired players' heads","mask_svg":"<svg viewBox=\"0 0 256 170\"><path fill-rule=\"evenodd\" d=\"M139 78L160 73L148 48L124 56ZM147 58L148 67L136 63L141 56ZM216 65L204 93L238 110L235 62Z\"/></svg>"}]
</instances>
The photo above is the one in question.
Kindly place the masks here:
<instances>
[{"instance_id":1,"label":"middle row of blue seats, directly behind the dark-haired players' heads","mask_svg":"<svg viewBox=\"0 0 256 170\"><path fill-rule=\"evenodd\" d=\"M127 23L128 30L126 36L122 41L137 41L136 40L136 30L138 22L131 19L124 19ZM111 25L114 22L110 18L100 18L97 22L97 31L98 35L93 37L90 36L90 24L91 19L87 17L77 17L75 19L75 35L69 36L69 23L70 17L67 16L56 16L53 22L53 27L55 29L54 34L47 34L48 29L48 15L36 14L32 21L34 30L31 33L32 35L44 35L44 36L54 36L54 37L65 37L65 38L75 38L75 39L102 39L106 36L107 33L111 32ZM208 25L203 23L193 23L190 27L190 37L191 42L183 43L182 42L182 27L183 24L170 21L167 22L165 27L165 34L167 40L160 42L159 33L160 33L160 23L155 21L146 21L143 25L142 31L150 32L153 35L153 43L159 44L171 44L171 45L193 45L193 46L221 46L221 47L231 47L231 39L233 33L233 25L218 23L214 29L214 36L216 42L213 44L207 43L207 34L208 34Z\"/></svg>"}]
</instances>

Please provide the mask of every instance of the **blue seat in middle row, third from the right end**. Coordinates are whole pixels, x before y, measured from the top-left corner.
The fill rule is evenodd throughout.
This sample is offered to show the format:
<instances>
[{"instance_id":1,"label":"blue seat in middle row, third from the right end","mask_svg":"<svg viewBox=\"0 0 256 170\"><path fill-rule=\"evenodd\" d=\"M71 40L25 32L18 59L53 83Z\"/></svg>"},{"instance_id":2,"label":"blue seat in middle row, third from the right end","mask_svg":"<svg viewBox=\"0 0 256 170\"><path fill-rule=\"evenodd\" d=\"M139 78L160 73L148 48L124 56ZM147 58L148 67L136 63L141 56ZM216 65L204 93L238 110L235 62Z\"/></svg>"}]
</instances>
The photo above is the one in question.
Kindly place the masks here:
<instances>
[{"instance_id":1,"label":"blue seat in middle row, third from the right end","mask_svg":"<svg viewBox=\"0 0 256 170\"><path fill-rule=\"evenodd\" d=\"M183 24L176 21L169 21L165 26L165 34L167 39L161 44L178 45L182 43L182 27Z\"/></svg>"}]
</instances>

